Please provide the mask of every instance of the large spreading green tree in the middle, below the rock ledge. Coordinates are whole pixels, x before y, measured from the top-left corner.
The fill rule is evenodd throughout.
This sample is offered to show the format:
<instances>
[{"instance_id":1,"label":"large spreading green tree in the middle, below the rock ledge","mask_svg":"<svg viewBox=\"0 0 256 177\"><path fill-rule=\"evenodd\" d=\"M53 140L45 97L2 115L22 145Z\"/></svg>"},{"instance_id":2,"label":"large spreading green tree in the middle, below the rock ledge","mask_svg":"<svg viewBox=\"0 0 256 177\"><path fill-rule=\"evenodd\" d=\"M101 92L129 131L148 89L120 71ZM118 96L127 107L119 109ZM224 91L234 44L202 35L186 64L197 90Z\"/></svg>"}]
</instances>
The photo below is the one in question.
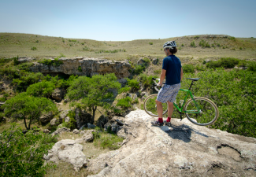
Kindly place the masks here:
<instances>
[{"instance_id":1,"label":"large spreading green tree in the middle, below the rock ledge","mask_svg":"<svg viewBox=\"0 0 256 177\"><path fill-rule=\"evenodd\" d=\"M113 98L110 90L120 88L121 83L117 82L117 77L113 73L105 76L80 76L71 83L66 97L70 101L80 101L82 107L92 111L93 119L95 119L97 107L109 105L109 99Z\"/></svg>"}]
</instances>

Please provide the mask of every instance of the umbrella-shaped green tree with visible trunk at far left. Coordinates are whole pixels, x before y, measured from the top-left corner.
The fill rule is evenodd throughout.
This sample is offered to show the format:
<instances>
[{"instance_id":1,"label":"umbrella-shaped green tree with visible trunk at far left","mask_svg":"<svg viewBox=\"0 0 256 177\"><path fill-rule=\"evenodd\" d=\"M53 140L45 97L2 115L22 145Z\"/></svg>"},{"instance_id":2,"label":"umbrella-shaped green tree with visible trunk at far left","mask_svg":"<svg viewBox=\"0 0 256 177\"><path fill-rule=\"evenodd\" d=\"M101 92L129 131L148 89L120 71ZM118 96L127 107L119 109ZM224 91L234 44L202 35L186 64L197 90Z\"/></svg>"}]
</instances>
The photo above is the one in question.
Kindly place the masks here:
<instances>
[{"instance_id":1,"label":"umbrella-shaped green tree with visible trunk at far left","mask_svg":"<svg viewBox=\"0 0 256 177\"><path fill-rule=\"evenodd\" d=\"M57 106L47 98L35 98L27 93L17 94L2 105L5 115L14 120L24 120L25 127L30 130L32 122L39 120L44 112L57 112ZM28 121L28 124L27 124Z\"/></svg>"}]
</instances>

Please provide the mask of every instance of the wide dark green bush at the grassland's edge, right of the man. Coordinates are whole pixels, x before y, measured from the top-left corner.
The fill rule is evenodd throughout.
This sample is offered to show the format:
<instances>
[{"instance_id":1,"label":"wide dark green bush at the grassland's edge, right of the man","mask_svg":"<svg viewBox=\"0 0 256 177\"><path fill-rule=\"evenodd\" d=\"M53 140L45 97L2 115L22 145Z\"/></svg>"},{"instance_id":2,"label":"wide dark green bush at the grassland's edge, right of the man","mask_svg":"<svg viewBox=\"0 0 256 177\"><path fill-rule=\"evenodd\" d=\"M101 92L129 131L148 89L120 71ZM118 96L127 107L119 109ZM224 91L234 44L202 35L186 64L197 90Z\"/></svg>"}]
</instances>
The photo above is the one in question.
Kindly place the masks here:
<instances>
[{"instance_id":1,"label":"wide dark green bush at the grassland's edge, right of the man","mask_svg":"<svg viewBox=\"0 0 256 177\"><path fill-rule=\"evenodd\" d=\"M218 61L209 61L206 64L207 68L234 68L239 64L239 59L234 57L222 57Z\"/></svg>"}]
</instances>

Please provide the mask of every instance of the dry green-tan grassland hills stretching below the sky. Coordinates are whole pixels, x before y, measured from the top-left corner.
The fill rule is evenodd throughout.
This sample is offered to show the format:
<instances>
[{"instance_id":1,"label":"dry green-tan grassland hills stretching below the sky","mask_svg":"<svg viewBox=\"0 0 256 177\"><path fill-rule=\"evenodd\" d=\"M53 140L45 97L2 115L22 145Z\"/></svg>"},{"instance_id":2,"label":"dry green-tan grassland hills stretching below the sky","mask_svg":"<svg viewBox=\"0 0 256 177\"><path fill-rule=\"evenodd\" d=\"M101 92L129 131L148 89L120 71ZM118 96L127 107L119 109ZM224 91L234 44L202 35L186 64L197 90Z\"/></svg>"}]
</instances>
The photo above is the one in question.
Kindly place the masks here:
<instances>
[{"instance_id":1,"label":"dry green-tan grassland hills stretching below the sky","mask_svg":"<svg viewBox=\"0 0 256 177\"><path fill-rule=\"evenodd\" d=\"M105 57L124 61L142 56L162 58L162 45L175 40L177 56L184 63L200 59L236 57L256 58L256 39L234 38L228 35L193 35L169 39L139 39L132 41L96 41L91 39L65 39L43 35L0 33L0 57ZM195 46L191 43L194 42Z\"/></svg>"}]
</instances>

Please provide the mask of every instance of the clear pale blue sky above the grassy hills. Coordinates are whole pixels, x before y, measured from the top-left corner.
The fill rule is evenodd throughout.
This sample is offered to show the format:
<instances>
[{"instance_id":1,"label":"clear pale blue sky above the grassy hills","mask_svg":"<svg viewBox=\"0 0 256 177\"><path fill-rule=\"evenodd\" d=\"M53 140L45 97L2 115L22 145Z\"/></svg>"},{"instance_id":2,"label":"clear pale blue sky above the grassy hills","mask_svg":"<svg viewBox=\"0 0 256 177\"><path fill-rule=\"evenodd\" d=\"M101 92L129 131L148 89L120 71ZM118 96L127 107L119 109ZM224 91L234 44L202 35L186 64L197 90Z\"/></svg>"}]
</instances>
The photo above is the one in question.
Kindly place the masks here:
<instances>
[{"instance_id":1,"label":"clear pale blue sky above the grassy hills","mask_svg":"<svg viewBox=\"0 0 256 177\"><path fill-rule=\"evenodd\" d=\"M256 37L256 0L0 0L0 32L131 41Z\"/></svg>"}]
</instances>

